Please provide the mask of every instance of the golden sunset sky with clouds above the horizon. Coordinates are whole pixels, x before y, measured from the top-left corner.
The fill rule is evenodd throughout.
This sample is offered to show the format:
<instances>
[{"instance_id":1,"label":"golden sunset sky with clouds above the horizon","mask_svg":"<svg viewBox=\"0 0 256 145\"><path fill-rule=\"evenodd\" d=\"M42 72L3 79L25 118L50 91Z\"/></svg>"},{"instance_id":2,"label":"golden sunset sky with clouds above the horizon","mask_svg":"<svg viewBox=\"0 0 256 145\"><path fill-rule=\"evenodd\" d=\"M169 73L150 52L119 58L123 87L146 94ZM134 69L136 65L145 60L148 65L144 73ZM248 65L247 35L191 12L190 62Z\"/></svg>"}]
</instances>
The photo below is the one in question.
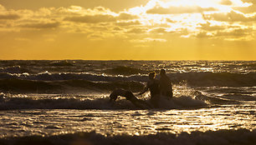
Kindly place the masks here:
<instances>
[{"instance_id":1,"label":"golden sunset sky with clouds above the horizon","mask_svg":"<svg viewBox=\"0 0 256 145\"><path fill-rule=\"evenodd\" d=\"M256 0L0 0L0 59L256 60Z\"/></svg>"}]
</instances>

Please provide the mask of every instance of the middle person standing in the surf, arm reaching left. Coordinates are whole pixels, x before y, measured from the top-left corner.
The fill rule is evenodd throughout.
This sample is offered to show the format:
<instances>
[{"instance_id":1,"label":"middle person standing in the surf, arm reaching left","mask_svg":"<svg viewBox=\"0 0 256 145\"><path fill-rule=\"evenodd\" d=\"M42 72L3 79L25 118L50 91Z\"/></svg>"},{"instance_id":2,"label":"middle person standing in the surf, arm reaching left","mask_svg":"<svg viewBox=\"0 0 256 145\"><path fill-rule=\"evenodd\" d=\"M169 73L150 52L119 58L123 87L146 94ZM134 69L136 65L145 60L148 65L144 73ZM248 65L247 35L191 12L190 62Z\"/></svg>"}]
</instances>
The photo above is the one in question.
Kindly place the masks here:
<instances>
[{"instance_id":1,"label":"middle person standing in the surf, arm reaching left","mask_svg":"<svg viewBox=\"0 0 256 145\"><path fill-rule=\"evenodd\" d=\"M156 79L156 72L150 72L149 75L149 81L146 83L145 89L139 93L139 95L142 95L143 93L147 92L148 89L151 92L151 104L154 107L159 107L159 97L160 97L160 85L159 81Z\"/></svg>"}]
</instances>

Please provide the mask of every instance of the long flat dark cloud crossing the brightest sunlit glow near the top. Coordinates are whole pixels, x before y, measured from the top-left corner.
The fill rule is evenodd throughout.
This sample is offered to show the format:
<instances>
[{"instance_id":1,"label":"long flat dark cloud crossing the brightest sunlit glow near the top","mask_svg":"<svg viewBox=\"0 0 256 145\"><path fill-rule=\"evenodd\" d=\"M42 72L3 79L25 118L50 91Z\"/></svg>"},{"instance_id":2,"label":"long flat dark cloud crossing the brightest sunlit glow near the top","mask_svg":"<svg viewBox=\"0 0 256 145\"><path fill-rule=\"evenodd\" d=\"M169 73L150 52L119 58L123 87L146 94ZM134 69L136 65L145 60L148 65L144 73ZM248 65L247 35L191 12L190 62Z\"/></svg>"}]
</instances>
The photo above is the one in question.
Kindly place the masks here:
<instances>
[{"instance_id":1,"label":"long flat dark cloud crossing the brightest sunlit glow near the top","mask_svg":"<svg viewBox=\"0 0 256 145\"><path fill-rule=\"evenodd\" d=\"M214 7L154 7L146 13L151 14L180 14L180 13L202 13L206 11L217 11Z\"/></svg>"}]
</instances>

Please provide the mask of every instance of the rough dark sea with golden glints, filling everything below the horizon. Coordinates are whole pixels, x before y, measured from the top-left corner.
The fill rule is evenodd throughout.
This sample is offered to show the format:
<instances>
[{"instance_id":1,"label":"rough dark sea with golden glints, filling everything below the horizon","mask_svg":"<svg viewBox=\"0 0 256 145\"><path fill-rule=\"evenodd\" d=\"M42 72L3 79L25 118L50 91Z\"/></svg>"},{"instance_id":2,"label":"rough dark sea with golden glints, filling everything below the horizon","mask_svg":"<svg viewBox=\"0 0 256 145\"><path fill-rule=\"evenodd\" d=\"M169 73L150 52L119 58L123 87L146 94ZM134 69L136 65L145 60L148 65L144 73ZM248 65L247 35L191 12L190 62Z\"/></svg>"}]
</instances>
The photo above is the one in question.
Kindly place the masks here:
<instances>
[{"instance_id":1,"label":"rough dark sea with golden glints, filling everything below the horizon","mask_svg":"<svg viewBox=\"0 0 256 145\"><path fill-rule=\"evenodd\" d=\"M161 69L159 108L109 102ZM14 144L255 145L256 61L1 60L0 145Z\"/></svg>"}]
</instances>

